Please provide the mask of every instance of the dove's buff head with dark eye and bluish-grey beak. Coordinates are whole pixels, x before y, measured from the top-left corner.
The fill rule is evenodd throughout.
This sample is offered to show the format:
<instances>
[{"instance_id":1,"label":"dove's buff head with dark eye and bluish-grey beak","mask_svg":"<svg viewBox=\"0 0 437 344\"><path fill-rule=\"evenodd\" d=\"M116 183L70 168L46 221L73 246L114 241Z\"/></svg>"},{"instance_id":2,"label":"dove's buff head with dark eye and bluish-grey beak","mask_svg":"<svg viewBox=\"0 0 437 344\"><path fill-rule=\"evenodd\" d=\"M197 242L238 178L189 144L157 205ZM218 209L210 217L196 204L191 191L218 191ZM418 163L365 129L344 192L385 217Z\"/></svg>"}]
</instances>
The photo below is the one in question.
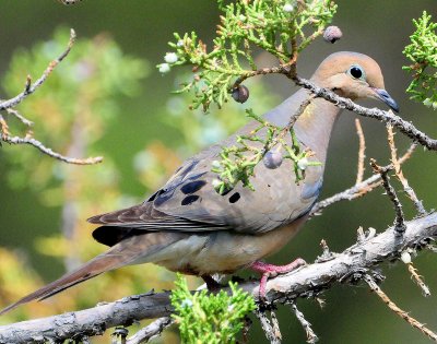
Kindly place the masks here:
<instances>
[{"instance_id":1,"label":"dove's buff head with dark eye and bluish-grey beak","mask_svg":"<svg viewBox=\"0 0 437 344\"><path fill-rule=\"evenodd\" d=\"M399 106L383 87L378 63L366 55L340 51L327 57L311 78L319 86L351 99L373 98L394 111Z\"/></svg>"}]
</instances>

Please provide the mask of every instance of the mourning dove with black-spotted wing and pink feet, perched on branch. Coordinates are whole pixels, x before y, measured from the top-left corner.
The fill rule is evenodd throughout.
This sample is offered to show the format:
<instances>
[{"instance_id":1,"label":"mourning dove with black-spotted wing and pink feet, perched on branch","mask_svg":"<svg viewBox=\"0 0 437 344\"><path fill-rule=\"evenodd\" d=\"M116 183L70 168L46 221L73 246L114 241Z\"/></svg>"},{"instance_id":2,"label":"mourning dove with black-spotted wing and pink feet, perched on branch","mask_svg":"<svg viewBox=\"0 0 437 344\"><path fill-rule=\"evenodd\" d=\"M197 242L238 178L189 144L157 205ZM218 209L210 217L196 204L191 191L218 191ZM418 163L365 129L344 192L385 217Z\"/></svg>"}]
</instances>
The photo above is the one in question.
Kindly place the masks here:
<instances>
[{"instance_id":1,"label":"mourning dove with black-spotted wing and pink feet, perched on branch","mask_svg":"<svg viewBox=\"0 0 437 344\"><path fill-rule=\"evenodd\" d=\"M378 63L357 52L336 52L324 59L311 81L351 99L374 98L398 111L397 103L383 90ZM284 127L308 99L302 88L264 114L269 122ZM101 227L93 237L110 247L78 270L25 296L2 310L5 312L34 299L45 299L103 272L139 263L155 263L186 274L202 276L209 285L212 274L231 274L251 268L262 273L260 295L269 276L288 272L304 263L297 259L276 266L260 260L280 250L308 217L322 186L324 162L332 127L341 109L315 98L294 124L303 149L318 166L306 168L296 182L292 162L276 169L259 164L251 182L255 191L238 183L226 194L216 192L211 171L222 146L236 144L237 135L248 134L252 121L220 144L187 159L153 195L139 205L97 215L88 221ZM262 132L260 133L262 135Z\"/></svg>"}]
</instances>

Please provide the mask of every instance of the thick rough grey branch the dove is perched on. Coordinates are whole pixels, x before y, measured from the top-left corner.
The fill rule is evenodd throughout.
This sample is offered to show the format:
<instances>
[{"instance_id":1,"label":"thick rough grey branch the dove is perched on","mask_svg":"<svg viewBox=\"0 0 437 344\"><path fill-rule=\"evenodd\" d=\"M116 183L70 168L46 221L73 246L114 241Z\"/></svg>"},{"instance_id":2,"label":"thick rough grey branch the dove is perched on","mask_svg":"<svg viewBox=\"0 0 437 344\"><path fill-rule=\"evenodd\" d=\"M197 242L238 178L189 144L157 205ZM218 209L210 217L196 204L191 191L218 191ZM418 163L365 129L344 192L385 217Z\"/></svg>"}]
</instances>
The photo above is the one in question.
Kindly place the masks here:
<instances>
[{"instance_id":1,"label":"thick rough grey branch the dove is perched on","mask_svg":"<svg viewBox=\"0 0 437 344\"><path fill-rule=\"evenodd\" d=\"M284 303L296 297L317 296L336 282L346 283L357 276L363 277L368 269L381 261L399 258L406 248L422 248L432 238L437 238L437 213L406 222L405 225L402 237L397 236L394 228L390 227L342 253L332 256L330 260L270 280L267 284L267 298L270 301ZM240 286L258 298L258 281L247 281L240 283ZM101 334L111 327L164 317L170 312L168 293L149 293L87 310L0 327L0 343L80 339L84 335Z\"/></svg>"}]
</instances>

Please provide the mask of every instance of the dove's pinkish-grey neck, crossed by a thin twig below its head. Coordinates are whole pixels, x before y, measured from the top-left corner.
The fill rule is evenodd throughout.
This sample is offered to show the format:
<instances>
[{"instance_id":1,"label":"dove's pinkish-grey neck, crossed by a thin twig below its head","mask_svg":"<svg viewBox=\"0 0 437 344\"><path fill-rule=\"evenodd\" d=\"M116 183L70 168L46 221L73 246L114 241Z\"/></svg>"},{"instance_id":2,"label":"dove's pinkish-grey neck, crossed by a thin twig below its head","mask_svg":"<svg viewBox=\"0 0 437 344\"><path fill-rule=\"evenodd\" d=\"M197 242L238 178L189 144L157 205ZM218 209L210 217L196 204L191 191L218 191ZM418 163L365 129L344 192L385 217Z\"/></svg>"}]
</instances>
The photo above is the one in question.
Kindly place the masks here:
<instances>
[{"instance_id":1,"label":"dove's pinkish-grey neck, crossed by a thin twig below its head","mask_svg":"<svg viewBox=\"0 0 437 344\"><path fill-rule=\"evenodd\" d=\"M265 115L265 119L284 127L300 104L309 96L308 91L299 90L284 103ZM340 108L322 98L315 98L299 116L294 130L297 138L316 153L316 158L324 163L332 128L339 117Z\"/></svg>"}]
</instances>

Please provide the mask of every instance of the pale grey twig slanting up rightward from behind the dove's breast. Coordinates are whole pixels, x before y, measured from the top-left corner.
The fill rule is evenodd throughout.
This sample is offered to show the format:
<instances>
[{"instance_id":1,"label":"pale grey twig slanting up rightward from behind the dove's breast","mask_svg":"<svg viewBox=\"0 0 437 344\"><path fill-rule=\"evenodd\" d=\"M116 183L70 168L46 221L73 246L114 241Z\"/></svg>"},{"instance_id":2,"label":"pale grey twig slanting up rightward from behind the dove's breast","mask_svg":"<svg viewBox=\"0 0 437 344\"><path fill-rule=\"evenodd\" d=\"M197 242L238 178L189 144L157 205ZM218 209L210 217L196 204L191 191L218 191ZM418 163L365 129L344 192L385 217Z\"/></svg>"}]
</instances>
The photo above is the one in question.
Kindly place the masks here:
<instances>
[{"instance_id":1,"label":"pale grey twig slanting up rightward from behind the dove's breast","mask_svg":"<svg viewBox=\"0 0 437 344\"><path fill-rule=\"evenodd\" d=\"M399 159L400 164L403 164L406 162L411 155L413 154L414 150L416 149L417 144L412 143L409 150L405 152L405 154ZM392 165L387 165L382 168L393 168ZM330 206L336 202L347 200L352 201L354 199L357 199L359 197L363 197L364 194L370 192L374 190L376 187L381 185L381 176L379 174L374 175L363 182L353 186L352 188L349 188L342 192L335 193L318 203L312 207L310 215L309 216L315 216L315 215L320 215L323 209L327 206Z\"/></svg>"}]
</instances>

